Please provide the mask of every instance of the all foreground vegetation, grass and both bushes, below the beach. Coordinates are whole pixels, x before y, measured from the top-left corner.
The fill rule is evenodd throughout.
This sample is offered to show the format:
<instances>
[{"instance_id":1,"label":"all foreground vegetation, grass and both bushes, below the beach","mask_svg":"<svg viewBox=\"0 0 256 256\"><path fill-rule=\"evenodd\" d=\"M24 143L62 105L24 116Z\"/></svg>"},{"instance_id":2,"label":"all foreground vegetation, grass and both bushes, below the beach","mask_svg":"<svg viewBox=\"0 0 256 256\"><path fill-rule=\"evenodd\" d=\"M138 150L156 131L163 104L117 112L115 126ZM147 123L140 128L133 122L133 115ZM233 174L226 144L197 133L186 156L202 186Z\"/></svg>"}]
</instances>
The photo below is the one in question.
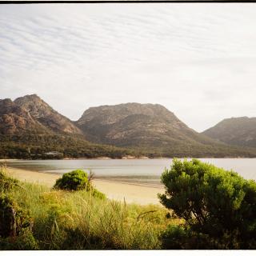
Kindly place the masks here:
<instances>
[{"instance_id":1,"label":"all foreground vegetation, grass and both bushes, below the beach","mask_svg":"<svg viewBox=\"0 0 256 256\"><path fill-rule=\"evenodd\" d=\"M174 160L161 206L106 198L82 170L54 188L0 172L0 249L256 249L256 182Z\"/></svg>"}]
</instances>

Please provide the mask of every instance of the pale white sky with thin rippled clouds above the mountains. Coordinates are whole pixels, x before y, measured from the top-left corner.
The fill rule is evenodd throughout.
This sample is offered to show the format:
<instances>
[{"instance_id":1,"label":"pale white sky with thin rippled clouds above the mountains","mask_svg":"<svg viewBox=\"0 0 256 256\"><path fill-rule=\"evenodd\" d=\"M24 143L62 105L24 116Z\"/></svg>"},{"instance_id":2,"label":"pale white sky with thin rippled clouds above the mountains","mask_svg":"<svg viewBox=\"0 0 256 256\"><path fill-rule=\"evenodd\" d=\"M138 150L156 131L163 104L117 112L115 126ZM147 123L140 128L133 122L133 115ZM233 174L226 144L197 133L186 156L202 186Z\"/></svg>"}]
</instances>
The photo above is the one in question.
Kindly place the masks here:
<instances>
[{"instance_id":1,"label":"pale white sky with thin rippled clouds above the mountains","mask_svg":"<svg viewBox=\"0 0 256 256\"><path fill-rule=\"evenodd\" d=\"M254 3L0 6L0 98L38 94L77 120L158 103L201 132L256 116Z\"/></svg>"}]
</instances>

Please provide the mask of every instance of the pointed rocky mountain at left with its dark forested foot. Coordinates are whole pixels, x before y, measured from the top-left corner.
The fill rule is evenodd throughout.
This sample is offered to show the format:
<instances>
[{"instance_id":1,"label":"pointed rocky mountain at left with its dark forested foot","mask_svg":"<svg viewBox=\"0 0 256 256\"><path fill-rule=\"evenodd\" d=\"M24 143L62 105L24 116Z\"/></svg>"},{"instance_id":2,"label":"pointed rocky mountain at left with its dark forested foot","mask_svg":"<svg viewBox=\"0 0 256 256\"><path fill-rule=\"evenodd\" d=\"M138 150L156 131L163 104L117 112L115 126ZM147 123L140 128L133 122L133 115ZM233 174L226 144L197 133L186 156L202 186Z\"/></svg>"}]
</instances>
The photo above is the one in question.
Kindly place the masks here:
<instances>
[{"instance_id":1,"label":"pointed rocky mountain at left with its dark forested foot","mask_svg":"<svg viewBox=\"0 0 256 256\"><path fill-rule=\"evenodd\" d=\"M70 119L35 94L0 100L0 145L0 158L120 158L134 154L86 141Z\"/></svg>"}]
</instances>

